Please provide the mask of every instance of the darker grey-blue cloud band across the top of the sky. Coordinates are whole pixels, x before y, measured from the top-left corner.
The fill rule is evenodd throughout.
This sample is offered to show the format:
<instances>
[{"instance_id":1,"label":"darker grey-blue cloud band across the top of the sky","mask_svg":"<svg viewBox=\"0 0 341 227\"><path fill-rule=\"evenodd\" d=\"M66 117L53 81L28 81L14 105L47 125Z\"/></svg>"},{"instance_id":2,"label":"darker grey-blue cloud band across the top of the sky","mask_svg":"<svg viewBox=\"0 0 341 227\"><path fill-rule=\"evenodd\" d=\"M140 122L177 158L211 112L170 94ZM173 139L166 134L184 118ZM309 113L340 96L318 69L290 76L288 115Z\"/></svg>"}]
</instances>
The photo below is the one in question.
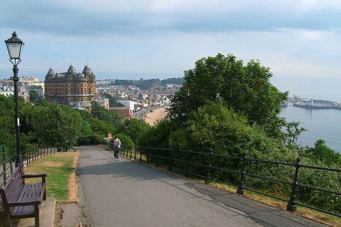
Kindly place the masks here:
<instances>
[{"instance_id":1,"label":"darker grey-blue cloud band across the top of the sky","mask_svg":"<svg viewBox=\"0 0 341 227\"><path fill-rule=\"evenodd\" d=\"M340 11L337 1L10 1L0 11L0 26L58 36L278 28L339 31Z\"/></svg>"}]
</instances>

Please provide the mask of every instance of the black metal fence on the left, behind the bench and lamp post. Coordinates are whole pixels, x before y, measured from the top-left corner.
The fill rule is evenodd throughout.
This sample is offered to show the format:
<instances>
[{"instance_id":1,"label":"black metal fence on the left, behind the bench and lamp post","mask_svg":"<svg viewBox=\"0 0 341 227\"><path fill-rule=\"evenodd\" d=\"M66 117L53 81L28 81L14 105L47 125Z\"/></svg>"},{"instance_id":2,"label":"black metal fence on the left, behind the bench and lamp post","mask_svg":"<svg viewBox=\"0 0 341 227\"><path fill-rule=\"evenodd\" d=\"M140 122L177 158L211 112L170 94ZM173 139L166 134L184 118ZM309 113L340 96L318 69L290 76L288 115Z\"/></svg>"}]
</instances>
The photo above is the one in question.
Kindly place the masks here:
<instances>
[{"instance_id":1,"label":"black metal fence on the left, behind the bench and lamp post","mask_svg":"<svg viewBox=\"0 0 341 227\"><path fill-rule=\"evenodd\" d=\"M15 169L15 160L16 160L16 150L13 150L13 155L6 157L6 148L2 146L2 163L3 171L0 173L0 187L6 185L8 177L11 175L13 170ZM70 149L69 151L75 151L76 147ZM33 161L38 158L44 157L49 154L59 153L55 147L48 146L46 144L34 144L29 148L23 151L23 164L28 166Z\"/></svg>"}]
</instances>

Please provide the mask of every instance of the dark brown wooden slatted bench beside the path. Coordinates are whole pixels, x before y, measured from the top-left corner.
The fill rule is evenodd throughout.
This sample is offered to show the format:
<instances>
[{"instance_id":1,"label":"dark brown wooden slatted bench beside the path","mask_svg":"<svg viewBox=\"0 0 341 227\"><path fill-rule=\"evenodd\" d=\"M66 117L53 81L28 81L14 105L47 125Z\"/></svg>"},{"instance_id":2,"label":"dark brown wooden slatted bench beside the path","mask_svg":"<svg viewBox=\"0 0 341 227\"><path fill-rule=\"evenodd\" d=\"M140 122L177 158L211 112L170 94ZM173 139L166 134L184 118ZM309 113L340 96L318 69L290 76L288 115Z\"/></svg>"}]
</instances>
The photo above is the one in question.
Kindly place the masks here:
<instances>
[{"instance_id":1,"label":"dark brown wooden slatted bench beside the path","mask_svg":"<svg viewBox=\"0 0 341 227\"><path fill-rule=\"evenodd\" d=\"M7 217L7 225L12 226L12 218L34 217L39 226L39 209L46 200L46 174L23 174L19 165L9 177L6 185L0 188L1 198ZM25 184L25 178L42 177L42 183Z\"/></svg>"}]
</instances>

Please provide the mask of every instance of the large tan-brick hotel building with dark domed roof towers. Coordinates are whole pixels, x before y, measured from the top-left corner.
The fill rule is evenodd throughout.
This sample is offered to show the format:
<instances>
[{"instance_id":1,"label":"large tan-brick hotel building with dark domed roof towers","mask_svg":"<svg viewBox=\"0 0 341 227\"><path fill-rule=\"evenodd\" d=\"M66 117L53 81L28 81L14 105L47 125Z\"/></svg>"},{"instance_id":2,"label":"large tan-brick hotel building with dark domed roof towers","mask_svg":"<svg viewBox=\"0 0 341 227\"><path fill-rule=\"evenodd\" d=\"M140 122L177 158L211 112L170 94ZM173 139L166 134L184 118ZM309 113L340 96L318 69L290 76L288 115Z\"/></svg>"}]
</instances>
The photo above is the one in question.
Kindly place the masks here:
<instances>
[{"instance_id":1,"label":"large tan-brick hotel building with dark domed roof towers","mask_svg":"<svg viewBox=\"0 0 341 227\"><path fill-rule=\"evenodd\" d=\"M95 89L96 77L89 65L84 66L82 73L77 73L72 64L66 73L55 73L51 67L45 77L44 97L49 101L84 107L90 111Z\"/></svg>"}]
</instances>

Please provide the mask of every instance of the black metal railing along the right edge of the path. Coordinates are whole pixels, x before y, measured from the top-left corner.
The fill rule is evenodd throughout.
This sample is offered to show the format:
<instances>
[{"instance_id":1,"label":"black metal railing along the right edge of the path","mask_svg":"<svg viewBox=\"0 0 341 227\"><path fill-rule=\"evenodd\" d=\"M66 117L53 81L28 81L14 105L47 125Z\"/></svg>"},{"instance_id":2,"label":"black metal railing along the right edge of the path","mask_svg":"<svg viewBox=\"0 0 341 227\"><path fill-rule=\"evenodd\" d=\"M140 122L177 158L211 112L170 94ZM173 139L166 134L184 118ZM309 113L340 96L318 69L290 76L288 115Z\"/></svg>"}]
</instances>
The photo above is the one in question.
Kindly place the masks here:
<instances>
[{"instance_id":1,"label":"black metal railing along the right edge of the path","mask_svg":"<svg viewBox=\"0 0 341 227\"><path fill-rule=\"evenodd\" d=\"M109 143L102 145L104 149L113 152L113 147ZM302 165L300 164L300 158L297 157L295 163L285 163L285 162L277 162L277 161L269 161L269 160L260 160L255 158L248 158L245 155L243 156L229 156L229 155L222 155L222 154L214 154L211 150L208 153L205 152L197 152L197 151L190 151L190 150L174 150L169 148L155 148L155 147L139 147L139 146L127 146L122 145L122 148L120 149L120 154L123 156L126 156L128 158L133 158L134 160L139 159L140 162L146 162L147 164L152 163L156 167L158 166L164 166L168 168L169 171L177 170L180 172L183 172L184 176L188 177L189 175L204 178L205 184L208 184L211 180L232 185L237 188L236 193L243 195L244 190L249 190L261 195L269 196L271 198L275 198L281 201L287 202L287 210L295 212L296 206L302 206L306 207L312 210L316 210L319 212L323 212L326 214L330 214L333 216L341 217L339 213L334 213L328 210L320 209L318 207L311 206L309 204L305 204L302 202L296 201L296 192L297 188L305 189L305 190L315 190L318 192L333 194L336 196L340 196L340 191L333 191L329 189L323 189L323 188L316 188L313 186L303 185L298 183L299 178L299 169L315 169L315 170L324 170L329 172L337 172L340 173L341 169L335 169L335 168L328 168L328 167L318 167L318 166L310 166L310 165ZM199 155L202 157L204 156L202 160L206 160L206 163L198 163L196 160ZM218 165L219 162L213 162L213 160L222 160L222 159L228 159L233 160L237 163L235 167L238 169L229 169L226 165ZM213 166L213 164L216 164L216 166ZM226 164L226 163L225 163ZM282 180L282 179L276 179L275 173L273 173L273 177L268 176L259 176L256 174L253 174L252 172L247 171L247 167L252 167L253 165L259 165L259 164L269 164L269 165L277 165L277 166L284 166L287 168L292 169L293 176L288 176L288 179L291 178L290 181ZM196 166L198 167L197 171L190 171L190 167ZM266 166L262 166L262 168L266 168ZM250 169L250 168L249 168ZM212 171L219 171L220 173L225 174L233 174L235 176L238 176L238 184L233 184L227 180L222 180L219 177L215 177L212 179L211 174ZM218 174L219 175L219 174ZM222 174L220 174L221 176ZM248 188L245 187L245 182L247 181L247 177L250 178L256 178L260 180L268 180L273 183L277 183L281 186L287 186L288 191L284 194L288 194L287 197L280 197L276 195L271 195L269 193L266 193L264 191L258 191L255 188ZM339 179L341 179L341 176L339 176ZM285 189L285 188L284 188Z\"/></svg>"}]
</instances>

